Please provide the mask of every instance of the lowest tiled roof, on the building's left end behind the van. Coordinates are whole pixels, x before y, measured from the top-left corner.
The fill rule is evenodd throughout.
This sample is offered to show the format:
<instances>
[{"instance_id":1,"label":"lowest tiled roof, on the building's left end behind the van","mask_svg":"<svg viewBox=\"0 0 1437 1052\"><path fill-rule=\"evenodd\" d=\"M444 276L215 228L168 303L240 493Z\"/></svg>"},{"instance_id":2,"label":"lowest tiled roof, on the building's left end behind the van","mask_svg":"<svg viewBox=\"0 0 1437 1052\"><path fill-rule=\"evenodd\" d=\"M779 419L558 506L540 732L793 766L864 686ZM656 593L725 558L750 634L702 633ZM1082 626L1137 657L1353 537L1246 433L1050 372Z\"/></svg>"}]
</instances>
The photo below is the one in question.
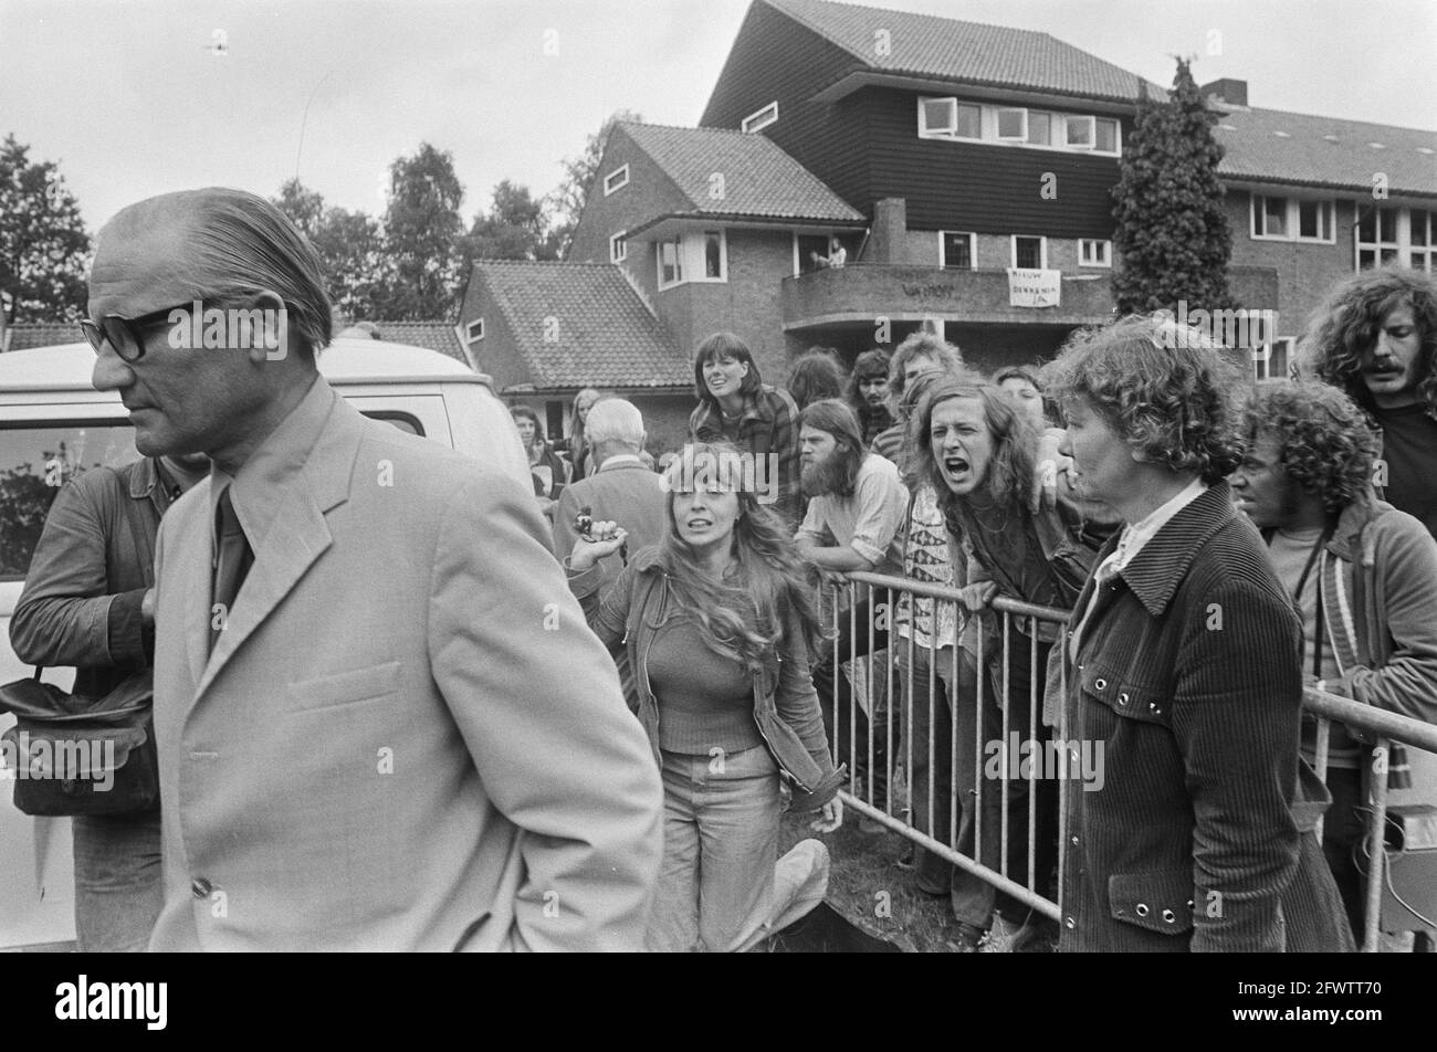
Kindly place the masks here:
<instances>
[{"instance_id":1,"label":"lowest tiled roof, on the building's left end behind the van","mask_svg":"<svg viewBox=\"0 0 1437 1052\"><path fill-rule=\"evenodd\" d=\"M537 389L693 387L688 359L619 267L477 260L474 273L503 313ZM550 318L555 326L546 325Z\"/></svg>"}]
</instances>

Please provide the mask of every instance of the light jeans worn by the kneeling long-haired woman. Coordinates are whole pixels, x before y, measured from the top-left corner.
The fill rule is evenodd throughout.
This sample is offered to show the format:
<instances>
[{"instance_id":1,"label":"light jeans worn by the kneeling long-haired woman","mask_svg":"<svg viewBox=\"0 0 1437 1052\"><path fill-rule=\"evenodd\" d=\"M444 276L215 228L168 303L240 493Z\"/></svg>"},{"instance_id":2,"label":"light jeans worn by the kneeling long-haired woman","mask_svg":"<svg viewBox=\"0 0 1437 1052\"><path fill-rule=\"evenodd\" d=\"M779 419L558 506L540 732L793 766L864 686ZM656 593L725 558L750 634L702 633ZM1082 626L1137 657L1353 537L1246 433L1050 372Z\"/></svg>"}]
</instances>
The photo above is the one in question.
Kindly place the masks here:
<instances>
[{"instance_id":1,"label":"light jeans worn by the kneeling long-haired woman","mask_svg":"<svg viewBox=\"0 0 1437 1052\"><path fill-rule=\"evenodd\" d=\"M741 953L822 901L822 844L803 841L775 867L782 800L767 749L662 759L664 864L647 949Z\"/></svg>"}]
</instances>

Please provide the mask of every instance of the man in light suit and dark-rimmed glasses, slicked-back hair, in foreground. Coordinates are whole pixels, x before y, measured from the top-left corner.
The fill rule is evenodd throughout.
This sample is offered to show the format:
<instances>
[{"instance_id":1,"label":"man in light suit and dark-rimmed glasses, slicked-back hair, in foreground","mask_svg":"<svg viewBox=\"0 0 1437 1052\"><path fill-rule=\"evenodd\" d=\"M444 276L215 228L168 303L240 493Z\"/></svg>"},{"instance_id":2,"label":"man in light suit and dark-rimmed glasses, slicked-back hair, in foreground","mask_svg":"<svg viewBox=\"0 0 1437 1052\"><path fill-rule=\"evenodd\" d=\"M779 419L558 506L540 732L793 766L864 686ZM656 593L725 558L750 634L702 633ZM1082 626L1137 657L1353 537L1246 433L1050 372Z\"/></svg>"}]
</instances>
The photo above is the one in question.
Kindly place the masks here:
<instances>
[{"instance_id":1,"label":"man in light suit and dark-rimmed glasses, slicked-back hair, in foreground","mask_svg":"<svg viewBox=\"0 0 1437 1052\"><path fill-rule=\"evenodd\" d=\"M138 448L214 461L155 553L151 949L639 947L658 773L530 493L329 388L319 260L259 197L121 211L89 315Z\"/></svg>"}]
</instances>

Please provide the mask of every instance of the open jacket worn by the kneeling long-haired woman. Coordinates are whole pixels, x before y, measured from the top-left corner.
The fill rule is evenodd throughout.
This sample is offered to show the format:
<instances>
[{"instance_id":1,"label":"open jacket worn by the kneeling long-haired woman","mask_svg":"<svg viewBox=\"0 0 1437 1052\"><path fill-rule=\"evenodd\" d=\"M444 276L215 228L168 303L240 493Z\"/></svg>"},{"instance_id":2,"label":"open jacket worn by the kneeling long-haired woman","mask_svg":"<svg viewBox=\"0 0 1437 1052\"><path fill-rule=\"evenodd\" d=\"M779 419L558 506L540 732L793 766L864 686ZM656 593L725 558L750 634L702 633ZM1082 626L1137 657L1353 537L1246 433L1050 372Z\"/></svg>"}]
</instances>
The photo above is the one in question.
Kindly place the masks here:
<instances>
[{"instance_id":1,"label":"open jacket worn by the kneeling long-haired woman","mask_svg":"<svg viewBox=\"0 0 1437 1052\"><path fill-rule=\"evenodd\" d=\"M589 628L615 654L624 696L648 733L654 759L660 760L658 698L648 681L648 648L674 609L658 549L639 549L606 583L596 566L582 573L569 571L569 588ZM813 811L833 798L845 772L833 767L828 752L798 614L789 609L786 619L777 650L766 655L753 675L753 721L793 788L793 811Z\"/></svg>"}]
</instances>

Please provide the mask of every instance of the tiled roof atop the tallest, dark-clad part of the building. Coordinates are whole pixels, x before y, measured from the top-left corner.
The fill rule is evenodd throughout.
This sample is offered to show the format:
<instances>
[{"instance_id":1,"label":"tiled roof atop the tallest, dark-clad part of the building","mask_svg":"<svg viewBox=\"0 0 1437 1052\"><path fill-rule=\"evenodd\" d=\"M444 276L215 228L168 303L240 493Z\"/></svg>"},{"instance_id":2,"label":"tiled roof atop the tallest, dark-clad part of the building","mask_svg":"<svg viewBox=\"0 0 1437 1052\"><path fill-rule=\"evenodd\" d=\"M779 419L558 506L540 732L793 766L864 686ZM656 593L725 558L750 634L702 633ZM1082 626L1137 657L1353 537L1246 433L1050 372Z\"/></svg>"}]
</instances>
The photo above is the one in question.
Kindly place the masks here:
<instances>
[{"instance_id":1,"label":"tiled roof atop the tallest, dark-clad part of the building","mask_svg":"<svg viewBox=\"0 0 1437 1052\"><path fill-rule=\"evenodd\" d=\"M1089 99L1138 98L1142 78L1048 33L825 0L762 0L872 70L1026 88ZM887 37L878 37L887 30ZM879 53L875 43L888 43ZM1161 88L1148 85L1154 98Z\"/></svg>"}]
</instances>

